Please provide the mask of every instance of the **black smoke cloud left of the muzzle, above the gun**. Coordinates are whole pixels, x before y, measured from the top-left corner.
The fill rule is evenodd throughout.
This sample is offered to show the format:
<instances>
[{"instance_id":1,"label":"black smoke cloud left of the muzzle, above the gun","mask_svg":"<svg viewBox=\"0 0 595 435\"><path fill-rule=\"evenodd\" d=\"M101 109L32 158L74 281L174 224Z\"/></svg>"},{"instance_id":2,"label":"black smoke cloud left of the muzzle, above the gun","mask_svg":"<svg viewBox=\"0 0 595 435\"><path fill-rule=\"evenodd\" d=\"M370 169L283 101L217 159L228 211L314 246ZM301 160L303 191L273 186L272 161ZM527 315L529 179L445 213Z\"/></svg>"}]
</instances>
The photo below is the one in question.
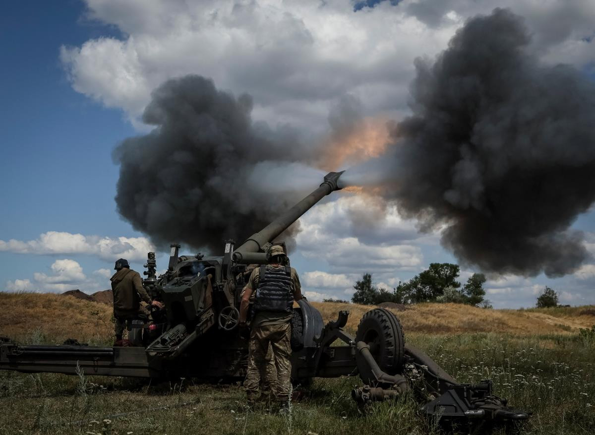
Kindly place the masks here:
<instances>
[{"instance_id":1,"label":"black smoke cloud left of the muzzle, above the gun","mask_svg":"<svg viewBox=\"0 0 595 435\"><path fill-rule=\"evenodd\" d=\"M213 253L268 224L321 174L295 163L309 152L295 131L254 124L251 109L248 95L235 98L200 76L159 86L143 113L156 128L114 151L118 212L159 247L183 242Z\"/></svg>"}]
</instances>

